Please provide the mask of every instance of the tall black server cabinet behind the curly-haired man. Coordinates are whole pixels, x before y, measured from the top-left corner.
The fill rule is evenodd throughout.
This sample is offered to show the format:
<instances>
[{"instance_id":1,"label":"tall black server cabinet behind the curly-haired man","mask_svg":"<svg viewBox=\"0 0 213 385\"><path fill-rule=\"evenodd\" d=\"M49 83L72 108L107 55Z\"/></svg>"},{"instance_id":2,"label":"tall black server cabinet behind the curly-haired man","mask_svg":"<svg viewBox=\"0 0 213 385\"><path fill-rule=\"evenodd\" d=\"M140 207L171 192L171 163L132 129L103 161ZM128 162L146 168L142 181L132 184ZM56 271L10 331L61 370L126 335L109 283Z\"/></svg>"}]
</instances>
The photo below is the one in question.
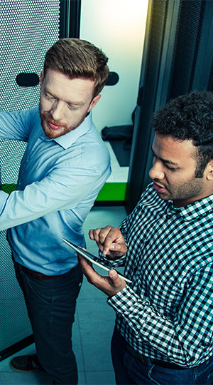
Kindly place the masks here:
<instances>
[{"instance_id":1,"label":"tall black server cabinet behind the curly-haired man","mask_svg":"<svg viewBox=\"0 0 213 385\"><path fill-rule=\"evenodd\" d=\"M150 0L126 193L131 212L151 182L151 118L181 94L212 89L213 1Z\"/></svg>"}]
</instances>

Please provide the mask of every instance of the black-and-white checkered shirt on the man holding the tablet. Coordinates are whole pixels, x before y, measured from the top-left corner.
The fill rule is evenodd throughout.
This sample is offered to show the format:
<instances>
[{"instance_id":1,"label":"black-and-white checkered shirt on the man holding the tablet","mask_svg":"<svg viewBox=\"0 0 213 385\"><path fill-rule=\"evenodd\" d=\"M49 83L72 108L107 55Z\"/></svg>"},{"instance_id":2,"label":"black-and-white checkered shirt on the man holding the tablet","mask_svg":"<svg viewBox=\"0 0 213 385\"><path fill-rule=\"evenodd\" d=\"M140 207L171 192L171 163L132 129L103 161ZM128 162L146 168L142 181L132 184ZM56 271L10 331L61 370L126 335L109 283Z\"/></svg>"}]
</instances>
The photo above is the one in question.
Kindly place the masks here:
<instances>
[{"instance_id":1,"label":"black-and-white checkered shirt on the man holding the tablet","mask_svg":"<svg viewBox=\"0 0 213 385\"><path fill-rule=\"evenodd\" d=\"M132 280L107 300L116 327L139 354L180 366L212 356L212 197L175 208L149 185L121 223Z\"/></svg>"}]
</instances>

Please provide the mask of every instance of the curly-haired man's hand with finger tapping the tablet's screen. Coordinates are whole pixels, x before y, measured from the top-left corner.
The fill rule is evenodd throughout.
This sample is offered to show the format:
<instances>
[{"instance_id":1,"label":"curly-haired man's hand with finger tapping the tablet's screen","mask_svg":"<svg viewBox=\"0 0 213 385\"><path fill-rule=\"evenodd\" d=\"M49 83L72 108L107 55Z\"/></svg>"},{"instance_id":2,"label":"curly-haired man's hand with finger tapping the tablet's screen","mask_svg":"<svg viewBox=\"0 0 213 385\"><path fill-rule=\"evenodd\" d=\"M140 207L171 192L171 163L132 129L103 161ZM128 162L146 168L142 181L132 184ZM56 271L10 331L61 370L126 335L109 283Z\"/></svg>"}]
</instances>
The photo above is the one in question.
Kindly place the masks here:
<instances>
[{"instance_id":1,"label":"curly-haired man's hand with finger tapping the tablet's screen","mask_svg":"<svg viewBox=\"0 0 213 385\"><path fill-rule=\"evenodd\" d=\"M89 237L95 240L101 252L116 260L126 253L126 243L119 227L106 226L89 230Z\"/></svg>"}]
</instances>

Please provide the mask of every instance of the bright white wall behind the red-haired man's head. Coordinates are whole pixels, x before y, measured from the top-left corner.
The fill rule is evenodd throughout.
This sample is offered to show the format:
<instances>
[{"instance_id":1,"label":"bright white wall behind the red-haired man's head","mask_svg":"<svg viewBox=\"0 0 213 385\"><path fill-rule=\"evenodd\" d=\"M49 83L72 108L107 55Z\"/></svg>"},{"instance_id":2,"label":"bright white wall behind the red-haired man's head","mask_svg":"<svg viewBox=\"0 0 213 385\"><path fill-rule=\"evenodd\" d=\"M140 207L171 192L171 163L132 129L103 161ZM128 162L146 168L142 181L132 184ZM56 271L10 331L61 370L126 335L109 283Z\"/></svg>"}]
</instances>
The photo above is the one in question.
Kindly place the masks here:
<instances>
[{"instance_id":1,"label":"bright white wall behind the red-haired man's head","mask_svg":"<svg viewBox=\"0 0 213 385\"><path fill-rule=\"evenodd\" d=\"M131 124L141 72L148 0L82 0L80 39L94 43L109 57L119 83L107 86L93 110L99 131L105 125Z\"/></svg>"}]
</instances>

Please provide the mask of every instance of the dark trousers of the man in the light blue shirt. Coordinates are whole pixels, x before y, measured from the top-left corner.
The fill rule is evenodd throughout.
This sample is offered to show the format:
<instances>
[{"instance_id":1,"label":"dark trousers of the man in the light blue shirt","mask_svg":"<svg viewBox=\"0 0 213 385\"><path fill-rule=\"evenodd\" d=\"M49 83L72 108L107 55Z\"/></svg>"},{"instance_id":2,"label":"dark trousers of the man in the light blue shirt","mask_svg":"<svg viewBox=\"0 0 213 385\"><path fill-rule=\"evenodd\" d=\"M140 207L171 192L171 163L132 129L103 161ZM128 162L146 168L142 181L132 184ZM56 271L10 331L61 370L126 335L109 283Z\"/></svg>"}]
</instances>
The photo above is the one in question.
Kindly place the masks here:
<instances>
[{"instance_id":1,"label":"dark trousers of the man in the light blue shirt","mask_svg":"<svg viewBox=\"0 0 213 385\"><path fill-rule=\"evenodd\" d=\"M77 384L72 324L82 284L80 266L48 280L29 277L17 264L15 270L26 301L40 364L53 376L53 384Z\"/></svg>"}]
</instances>

